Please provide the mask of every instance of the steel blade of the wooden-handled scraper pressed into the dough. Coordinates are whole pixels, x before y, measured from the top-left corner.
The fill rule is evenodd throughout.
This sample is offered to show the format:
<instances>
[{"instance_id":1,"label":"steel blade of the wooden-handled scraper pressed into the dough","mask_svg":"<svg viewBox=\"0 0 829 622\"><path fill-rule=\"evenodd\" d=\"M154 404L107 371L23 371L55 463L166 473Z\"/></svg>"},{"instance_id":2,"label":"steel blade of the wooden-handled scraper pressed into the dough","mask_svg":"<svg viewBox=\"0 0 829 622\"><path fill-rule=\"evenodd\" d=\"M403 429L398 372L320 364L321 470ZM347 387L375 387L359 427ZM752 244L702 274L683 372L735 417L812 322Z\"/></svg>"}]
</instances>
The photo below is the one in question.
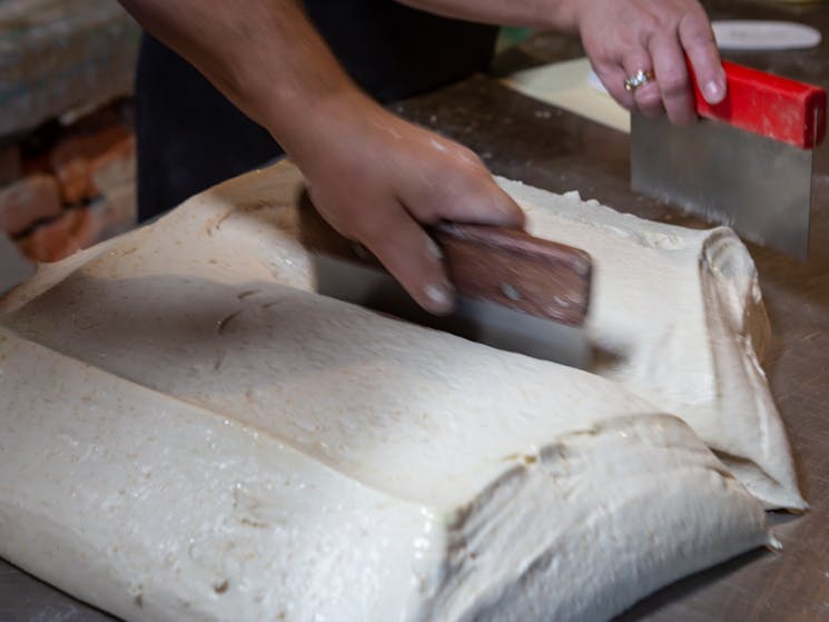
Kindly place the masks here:
<instances>
[{"instance_id":1,"label":"steel blade of the wooden-handled scraper pressed into the dough","mask_svg":"<svg viewBox=\"0 0 829 622\"><path fill-rule=\"evenodd\" d=\"M448 316L423 310L387 273L328 255L312 256L319 294L394 315L535 358L586 368L590 345L582 328L542 319L494 303L461 298Z\"/></svg>"}]
</instances>

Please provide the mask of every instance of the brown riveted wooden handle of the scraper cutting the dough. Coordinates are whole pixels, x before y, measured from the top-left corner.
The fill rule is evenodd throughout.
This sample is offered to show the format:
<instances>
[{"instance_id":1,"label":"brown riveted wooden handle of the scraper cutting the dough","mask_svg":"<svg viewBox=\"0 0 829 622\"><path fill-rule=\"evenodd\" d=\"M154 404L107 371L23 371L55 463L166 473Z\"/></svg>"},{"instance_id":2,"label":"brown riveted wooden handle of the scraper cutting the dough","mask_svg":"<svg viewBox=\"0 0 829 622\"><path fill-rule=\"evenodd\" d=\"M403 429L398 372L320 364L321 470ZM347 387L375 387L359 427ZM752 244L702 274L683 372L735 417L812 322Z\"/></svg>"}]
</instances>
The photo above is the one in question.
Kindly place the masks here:
<instances>
[{"instance_id":1,"label":"brown riveted wooden handle of the scraper cutting the dough","mask_svg":"<svg viewBox=\"0 0 829 622\"><path fill-rule=\"evenodd\" d=\"M571 326L584 323L592 273L584 250L488 225L441 223L430 231L461 295Z\"/></svg>"}]
</instances>

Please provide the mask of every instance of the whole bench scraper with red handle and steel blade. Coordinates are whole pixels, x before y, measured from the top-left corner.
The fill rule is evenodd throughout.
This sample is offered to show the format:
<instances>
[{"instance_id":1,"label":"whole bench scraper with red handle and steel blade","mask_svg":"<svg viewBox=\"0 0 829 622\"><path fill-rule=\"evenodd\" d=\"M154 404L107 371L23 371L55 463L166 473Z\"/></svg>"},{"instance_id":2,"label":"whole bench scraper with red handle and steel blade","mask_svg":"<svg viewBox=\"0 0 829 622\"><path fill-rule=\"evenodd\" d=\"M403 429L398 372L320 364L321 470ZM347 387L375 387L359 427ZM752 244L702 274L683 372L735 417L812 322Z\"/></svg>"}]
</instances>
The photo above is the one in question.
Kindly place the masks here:
<instances>
[{"instance_id":1,"label":"whole bench scraper with red handle and steel blade","mask_svg":"<svg viewBox=\"0 0 829 622\"><path fill-rule=\"evenodd\" d=\"M826 135L826 90L722 66L728 95L717 106L693 80L702 117L697 124L631 115L631 187L806 259L812 152Z\"/></svg>"}]
</instances>

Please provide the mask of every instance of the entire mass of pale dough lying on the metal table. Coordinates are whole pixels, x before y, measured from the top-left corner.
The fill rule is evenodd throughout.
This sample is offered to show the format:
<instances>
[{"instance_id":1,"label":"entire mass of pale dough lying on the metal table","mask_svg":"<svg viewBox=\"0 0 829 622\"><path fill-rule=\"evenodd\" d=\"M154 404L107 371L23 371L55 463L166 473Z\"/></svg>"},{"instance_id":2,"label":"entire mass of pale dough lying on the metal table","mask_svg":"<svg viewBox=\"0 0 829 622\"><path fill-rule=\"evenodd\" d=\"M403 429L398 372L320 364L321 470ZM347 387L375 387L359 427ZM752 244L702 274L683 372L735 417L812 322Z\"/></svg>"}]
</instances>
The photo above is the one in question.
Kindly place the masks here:
<instances>
[{"instance_id":1,"label":"entire mass of pale dough lying on the metal table","mask_svg":"<svg viewBox=\"0 0 829 622\"><path fill-rule=\"evenodd\" d=\"M757 363L756 275L726 230L663 238L503 184L537 231L616 236L631 270L624 245L641 246L647 283L691 279L688 257L699 275L724 240L712 265L743 315L718 338ZM773 543L749 491L800 497L793 475L766 476L791 461L762 373L723 403L717 347L694 340L720 282L692 280L702 326L674 296L689 335L673 343L662 310L640 324L608 306L611 279L638 277L580 245L603 378L314 294L299 188L286 164L231 180L0 302L0 555L126 620L601 620ZM647 304L628 294L619 308ZM661 349L636 340L648 324L665 324ZM673 356L687 343L708 354ZM705 445L758 422L714 447L762 463L766 478L734 470L747 491Z\"/></svg>"}]
</instances>

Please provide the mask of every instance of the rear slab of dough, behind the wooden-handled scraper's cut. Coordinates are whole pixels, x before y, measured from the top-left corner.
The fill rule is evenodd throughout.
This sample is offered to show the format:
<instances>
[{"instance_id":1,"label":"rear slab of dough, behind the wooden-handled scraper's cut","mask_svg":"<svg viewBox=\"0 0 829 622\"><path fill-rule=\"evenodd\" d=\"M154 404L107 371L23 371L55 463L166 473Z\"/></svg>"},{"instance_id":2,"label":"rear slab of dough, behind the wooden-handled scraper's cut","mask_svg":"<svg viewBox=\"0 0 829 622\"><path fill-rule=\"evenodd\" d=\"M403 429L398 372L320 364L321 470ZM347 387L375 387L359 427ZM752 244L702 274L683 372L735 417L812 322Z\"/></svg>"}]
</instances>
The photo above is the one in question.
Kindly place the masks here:
<instances>
[{"instance_id":1,"label":"rear slab of dough, behind the wooden-handled scraper's cut","mask_svg":"<svg viewBox=\"0 0 829 622\"><path fill-rule=\"evenodd\" d=\"M786 432L758 361L769 326L757 270L739 238L724 227L663 225L582 201L574 192L500 182L527 211L535 235L593 257L589 333L598 356L592 371L683 418L767 509L803 510ZM41 270L0 304L0 313L7 310L2 322L96 365L98 344L106 343L108 369L213 408L231 408L235 396L217 391L216 378L237 373L253 385L269 377L267 367L235 361L201 337L176 345L181 337L170 333L196 328L158 330L155 322L180 318L177 305L184 305L188 318L221 325L224 334L247 323L249 309L267 304L258 282L314 290L299 243L300 188L302 178L287 162L221 185L116 246ZM178 284L181 300L171 305L164 283L180 270L194 284ZM65 283L51 287L67 274ZM228 294L223 317L190 308L188 292L198 290L197 277L236 292ZM239 288L240 283L247 285ZM56 307L65 309L62 322L56 322ZM139 334L144 326L147 334ZM257 355L256 347L247 347L248 357ZM181 363L194 368L168 372ZM228 369L234 365L237 372ZM238 372L245 366L253 369ZM267 411L270 397L251 392L244 416L258 425L254 413Z\"/></svg>"}]
</instances>

